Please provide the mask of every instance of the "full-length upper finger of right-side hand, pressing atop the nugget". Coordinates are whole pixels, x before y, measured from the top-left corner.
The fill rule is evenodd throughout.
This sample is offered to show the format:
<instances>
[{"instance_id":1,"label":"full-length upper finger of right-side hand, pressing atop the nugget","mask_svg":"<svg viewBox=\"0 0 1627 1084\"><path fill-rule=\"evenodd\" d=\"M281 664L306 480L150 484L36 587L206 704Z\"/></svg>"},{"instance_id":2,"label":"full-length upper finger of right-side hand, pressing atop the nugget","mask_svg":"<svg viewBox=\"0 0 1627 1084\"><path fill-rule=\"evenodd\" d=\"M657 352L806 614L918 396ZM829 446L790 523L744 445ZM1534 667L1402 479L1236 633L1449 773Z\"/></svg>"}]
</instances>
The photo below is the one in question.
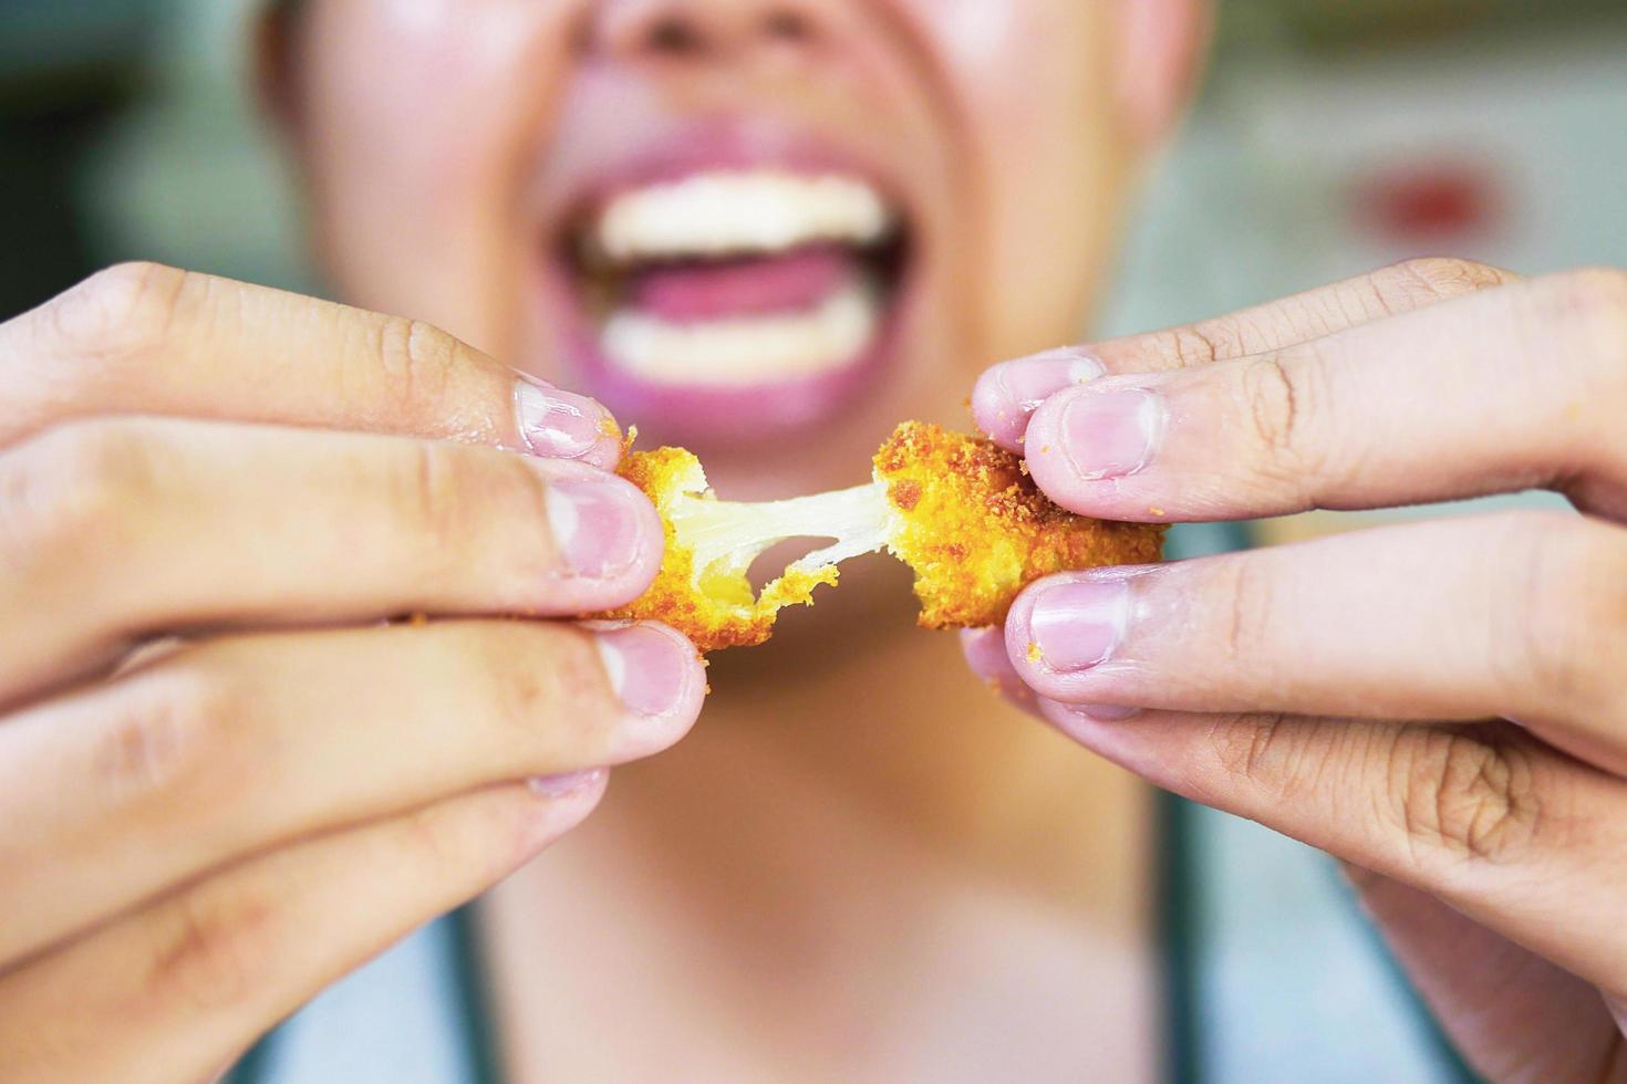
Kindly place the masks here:
<instances>
[{"instance_id":1,"label":"full-length upper finger of right-side hand, pressing atop the nugget","mask_svg":"<svg viewBox=\"0 0 1627 1084\"><path fill-rule=\"evenodd\" d=\"M1575 271L1167 374L1059 392L1027 431L1075 512L1217 520L1546 486L1627 515L1627 273Z\"/></svg>"}]
</instances>

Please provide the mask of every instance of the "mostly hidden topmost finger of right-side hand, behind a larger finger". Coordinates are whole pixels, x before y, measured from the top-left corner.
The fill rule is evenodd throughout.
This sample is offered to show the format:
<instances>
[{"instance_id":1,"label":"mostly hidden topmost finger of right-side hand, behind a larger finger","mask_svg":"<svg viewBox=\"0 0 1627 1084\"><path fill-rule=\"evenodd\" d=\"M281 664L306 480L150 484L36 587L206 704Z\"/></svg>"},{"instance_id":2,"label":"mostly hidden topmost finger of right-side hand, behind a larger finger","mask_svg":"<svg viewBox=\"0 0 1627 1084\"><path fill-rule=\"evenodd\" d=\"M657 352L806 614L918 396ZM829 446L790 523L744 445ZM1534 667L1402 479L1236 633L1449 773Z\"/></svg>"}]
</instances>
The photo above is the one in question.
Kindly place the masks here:
<instances>
[{"instance_id":1,"label":"mostly hidden topmost finger of right-side hand, behind a larger finger","mask_svg":"<svg viewBox=\"0 0 1627 1084\"><path fill-rule=\"evenodd\" d=\"M997 444L1022 452L1033 411L1066 387L1284 349L1511 281L1516 276L1508 271L1468 260L1407 260L1197 323L1001 362L978 379L971 416Z\"/></svg>"}]
</instances>

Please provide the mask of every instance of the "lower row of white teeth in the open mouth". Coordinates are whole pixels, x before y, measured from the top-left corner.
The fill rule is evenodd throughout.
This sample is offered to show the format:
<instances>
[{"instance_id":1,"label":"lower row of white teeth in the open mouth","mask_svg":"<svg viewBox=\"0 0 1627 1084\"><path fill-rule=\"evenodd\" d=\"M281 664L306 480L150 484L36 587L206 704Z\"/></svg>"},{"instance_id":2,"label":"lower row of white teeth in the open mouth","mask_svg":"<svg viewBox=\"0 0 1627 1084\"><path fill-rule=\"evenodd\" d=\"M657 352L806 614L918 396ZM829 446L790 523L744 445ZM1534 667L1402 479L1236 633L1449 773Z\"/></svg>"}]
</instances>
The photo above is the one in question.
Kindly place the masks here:
<instances>
[{"instance_id":1,"label":"lower row of white teeth in the open mouth","mask_svg":"<svg viewBox=\"0 0 1627 1084\"><path fill-rule=\"evenodd\" d=\"M618 309L600 332L600 346L613 366L651 384L744 387L841 369L870 343L879 323L875 293L849 284L804 312L696 323Z\"/></svg>"}]
</instances>

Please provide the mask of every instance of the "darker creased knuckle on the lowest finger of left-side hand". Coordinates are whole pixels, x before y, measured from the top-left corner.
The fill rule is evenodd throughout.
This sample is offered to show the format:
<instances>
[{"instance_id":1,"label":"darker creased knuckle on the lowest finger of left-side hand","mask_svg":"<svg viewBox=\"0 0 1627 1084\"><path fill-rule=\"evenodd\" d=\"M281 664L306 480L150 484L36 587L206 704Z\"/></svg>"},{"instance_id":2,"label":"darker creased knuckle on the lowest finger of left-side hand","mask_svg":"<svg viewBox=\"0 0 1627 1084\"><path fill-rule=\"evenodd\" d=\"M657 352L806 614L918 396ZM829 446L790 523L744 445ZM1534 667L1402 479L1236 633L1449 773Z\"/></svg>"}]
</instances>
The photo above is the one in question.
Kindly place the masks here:
<instances>
[{"instance_id":1,"label":"darker creased knuckle on the lowest finger of left-side hand","mask_svg":"<svg viewBox=\"0 0 1627 1084\"><path fill-rule=\"evenodd\" d=\"M277 900L218 878L182 892L156 923L148 993L208 1012L260 996L277 969Z\"/></svg>"}]
</instances>

